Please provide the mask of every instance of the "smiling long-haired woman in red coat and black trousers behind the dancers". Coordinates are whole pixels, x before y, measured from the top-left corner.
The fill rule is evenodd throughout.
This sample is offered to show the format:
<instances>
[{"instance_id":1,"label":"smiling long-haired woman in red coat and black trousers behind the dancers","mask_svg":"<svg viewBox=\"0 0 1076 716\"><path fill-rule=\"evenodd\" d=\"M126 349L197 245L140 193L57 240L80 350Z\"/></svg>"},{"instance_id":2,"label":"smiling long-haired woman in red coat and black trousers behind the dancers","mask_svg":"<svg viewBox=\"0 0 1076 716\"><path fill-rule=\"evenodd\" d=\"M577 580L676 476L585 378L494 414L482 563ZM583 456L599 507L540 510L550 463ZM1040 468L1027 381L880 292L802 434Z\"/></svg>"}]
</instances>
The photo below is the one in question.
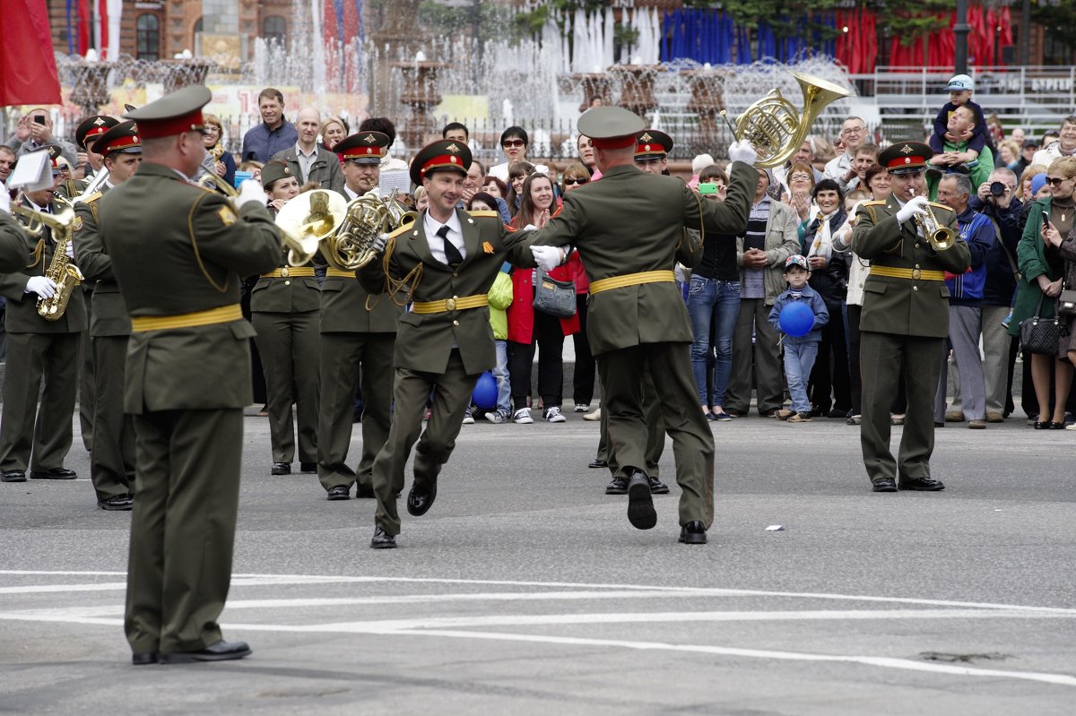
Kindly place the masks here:
<instances>
[{"instance_id":1,"label":"smiling long-haired woman in red coat and black trousers behind the dancers","mask_svg":"<svg viewBox=\"0 0 1076 716\"><path fill-rule=\"evenodd\" d=\"M539 229L549 224L560 206L553 201L553 182L544 174L530 174L523 182L523 201L512 217L510 227L522 229L534 225ZM512 384L515 412L512 421L534 423L527 406L530 393L530 371L535 346L538 348L538 395L542 401L542 418L547 423L564 423L561 402L564 391L564 336L579 330L579 317L557 318L535 311L536 269L512 269L512 304L508 307L508 375ZM569 281L567 266L549 273L556 281Z\"/></svg>"}]
</instances>

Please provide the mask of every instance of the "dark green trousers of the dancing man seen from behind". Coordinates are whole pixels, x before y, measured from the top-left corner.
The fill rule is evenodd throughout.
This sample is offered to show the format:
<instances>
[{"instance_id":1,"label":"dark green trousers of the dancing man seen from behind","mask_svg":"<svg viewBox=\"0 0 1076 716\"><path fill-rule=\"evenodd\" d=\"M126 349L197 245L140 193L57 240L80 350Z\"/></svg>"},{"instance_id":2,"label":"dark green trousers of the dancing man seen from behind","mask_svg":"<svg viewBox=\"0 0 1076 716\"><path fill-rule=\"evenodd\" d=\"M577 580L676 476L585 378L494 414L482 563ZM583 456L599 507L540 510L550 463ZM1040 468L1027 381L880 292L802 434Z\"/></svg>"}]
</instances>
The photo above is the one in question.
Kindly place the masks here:
<instances>
[{"instance_id":1,"label":"dark green trousers of the dancing man seen from behind","mask_svg":"<svg viewBox=\"0 0 1076 716\"><path fill-rule=\"evenodd\" d=\"M713 433L698 409L698 391L691 372L690 344L643 343L597 356L601 376L601 412L609 412L609 441L621 469L642 469L647 463L648 425L643 382L650 371L665 429L672 438L676 479L680 495L680 525L713 522Z\"/></svg>"}]
</instances>

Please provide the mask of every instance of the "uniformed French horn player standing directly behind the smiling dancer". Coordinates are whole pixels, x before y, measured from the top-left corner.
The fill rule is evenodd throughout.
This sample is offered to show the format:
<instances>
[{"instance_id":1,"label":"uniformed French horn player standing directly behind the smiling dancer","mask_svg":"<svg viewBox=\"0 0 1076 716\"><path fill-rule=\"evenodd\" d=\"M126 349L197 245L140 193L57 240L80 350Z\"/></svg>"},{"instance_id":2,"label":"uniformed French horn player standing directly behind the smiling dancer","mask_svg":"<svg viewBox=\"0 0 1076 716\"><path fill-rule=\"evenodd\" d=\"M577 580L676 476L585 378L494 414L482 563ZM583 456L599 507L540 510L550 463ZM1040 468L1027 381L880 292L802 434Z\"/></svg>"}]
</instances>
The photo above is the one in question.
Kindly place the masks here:
<instances>
[{"instance_id":1,"label":"uniformed French horn player standing directly behind the smiling dancer","mask_svg":"<svg viewBox=\"0 0 1076 716\"><path fill-rule=\"evenodd\" d=\"M381 160L392 140L365 131L332 147L343 161L348 202L373 192L381 178ZM326 250L324 247L323 252ZM392 424L393 352L404 309L386 296L370 296L354 271L329 267L322 284L322 410L317 421L317 477L327 499L373 497L373 458L388 439ZM363 455L358 468L348 467L355 386L362 382ZM412 442L414 438L411 439ZM395 478L404 488L404 466Z\"/></svg>"}]
</instances>

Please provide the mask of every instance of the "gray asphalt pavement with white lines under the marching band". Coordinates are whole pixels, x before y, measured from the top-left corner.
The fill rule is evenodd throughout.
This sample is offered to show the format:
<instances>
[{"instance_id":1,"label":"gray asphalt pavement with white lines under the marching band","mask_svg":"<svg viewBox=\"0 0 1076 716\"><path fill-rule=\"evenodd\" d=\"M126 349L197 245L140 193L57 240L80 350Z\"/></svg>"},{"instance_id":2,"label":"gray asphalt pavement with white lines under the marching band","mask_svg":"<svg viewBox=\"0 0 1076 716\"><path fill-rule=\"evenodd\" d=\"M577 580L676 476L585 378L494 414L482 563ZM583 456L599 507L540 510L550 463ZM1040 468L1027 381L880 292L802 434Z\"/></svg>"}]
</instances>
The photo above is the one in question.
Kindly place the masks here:
<instances>
[{"instance_id":1,"label":"gray asphalt pavement with white lines under the marching band","mask_svg":"<svg viewBox=\"0 0 1076 716\"><path fill-rule=\"evenodd\" d=\"M254 655L218 664L130 665L129 514L88 479L0 485L0 713L1073 713L1076 433L950 425L948 489L875 495L844 420L712 430L706 546L675 486L634 530L572 414L465 427L430 513L371 550L373 501L271 477L247 417L222 624Z\"/></svg>"}]
</instances>

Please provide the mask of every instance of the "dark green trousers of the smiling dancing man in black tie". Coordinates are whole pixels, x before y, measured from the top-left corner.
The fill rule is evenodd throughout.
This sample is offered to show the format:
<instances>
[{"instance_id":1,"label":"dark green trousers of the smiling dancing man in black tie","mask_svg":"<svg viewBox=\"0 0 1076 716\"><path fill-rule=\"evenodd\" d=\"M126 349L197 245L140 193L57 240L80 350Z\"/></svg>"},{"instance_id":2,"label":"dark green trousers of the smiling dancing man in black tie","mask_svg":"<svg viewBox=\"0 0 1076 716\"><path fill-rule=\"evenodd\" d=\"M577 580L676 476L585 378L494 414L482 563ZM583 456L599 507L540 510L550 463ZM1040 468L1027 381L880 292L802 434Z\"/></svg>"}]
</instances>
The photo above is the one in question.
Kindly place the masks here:
<instances>
[{"instance_id":1,"label":"dark green trousers of the smiling dancing man in black tie","mask_svg":"<svg viewBox=\"0 0 1076 716\"><path fill-rule=\"evenodd\" d=\"M449 354L444 373L423 373L396 369L393 388L393 427L388 441L373 461L373 493L378 498L374 521L388 534L399 534L400 518L396 511L396 493L404 489L404 466L415 439L414 485L426 488L437 479L441 466L449 461L456 446L456 435L463 426L464 413L481 373L468 375L459 352ZM426 429L419 436L426 401L434 391Z\"/></svg>"}]
</instances>

